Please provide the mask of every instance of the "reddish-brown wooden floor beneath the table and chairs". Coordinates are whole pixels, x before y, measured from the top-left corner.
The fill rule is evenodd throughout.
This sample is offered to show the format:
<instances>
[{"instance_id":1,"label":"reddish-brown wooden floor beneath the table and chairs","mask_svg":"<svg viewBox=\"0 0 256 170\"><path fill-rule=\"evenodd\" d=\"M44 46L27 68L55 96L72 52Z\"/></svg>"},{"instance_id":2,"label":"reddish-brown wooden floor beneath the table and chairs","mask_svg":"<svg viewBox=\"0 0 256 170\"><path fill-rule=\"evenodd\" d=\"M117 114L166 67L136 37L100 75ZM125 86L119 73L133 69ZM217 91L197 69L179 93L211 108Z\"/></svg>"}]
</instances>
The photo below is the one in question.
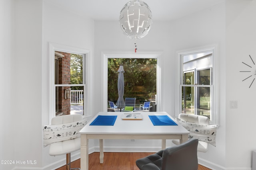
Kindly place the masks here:
<instances>
[{"instance_id":1,"label":"reddish-brown wooden floor beneath the table and chairs","mask_svg":"<svg viewBox=\"0 0 256 170\"><path fill-rule=\"evenodd\" d=\"M153 153L141 152L104 152L104 162L100 164L100 153L89 154L89 170L139 170L135 161ZM71 163L71 168L80 168L80 159ZM66 170L62 166L56 170ZM210 170L198 165L198 170Z\"/></svg>"}]
</instances>

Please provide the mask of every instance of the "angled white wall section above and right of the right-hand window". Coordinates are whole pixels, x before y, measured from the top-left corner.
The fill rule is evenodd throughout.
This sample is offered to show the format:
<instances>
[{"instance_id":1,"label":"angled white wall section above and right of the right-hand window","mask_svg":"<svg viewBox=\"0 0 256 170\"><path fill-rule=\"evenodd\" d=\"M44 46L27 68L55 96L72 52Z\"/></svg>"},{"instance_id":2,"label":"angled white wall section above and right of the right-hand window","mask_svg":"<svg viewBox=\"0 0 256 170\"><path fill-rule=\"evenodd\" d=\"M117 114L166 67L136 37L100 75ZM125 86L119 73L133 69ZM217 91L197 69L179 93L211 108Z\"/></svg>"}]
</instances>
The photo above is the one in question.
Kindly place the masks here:
<instances>
[{"instance_id":1,"label":"angled white wall section above and right of the right-hand window","mask_svg":"<svg viewBox=\"0 0 256 170\"><path fill-rule=\"evenodd\" d=\"M216 147L209 145L206 153L198 152L199 162L212 169L221 170L225 167L225 3L218 4L196 14L187 16L174 22L174 51L184 49L214 46L217 53L214 54L214 69L218 70L214 90L218 90L218 130ZM177 70L177 67L174 68ZM214 96L216 97L216 96ZM215 165L216 164L216 165Z\"/></svg>"}]
</instances>

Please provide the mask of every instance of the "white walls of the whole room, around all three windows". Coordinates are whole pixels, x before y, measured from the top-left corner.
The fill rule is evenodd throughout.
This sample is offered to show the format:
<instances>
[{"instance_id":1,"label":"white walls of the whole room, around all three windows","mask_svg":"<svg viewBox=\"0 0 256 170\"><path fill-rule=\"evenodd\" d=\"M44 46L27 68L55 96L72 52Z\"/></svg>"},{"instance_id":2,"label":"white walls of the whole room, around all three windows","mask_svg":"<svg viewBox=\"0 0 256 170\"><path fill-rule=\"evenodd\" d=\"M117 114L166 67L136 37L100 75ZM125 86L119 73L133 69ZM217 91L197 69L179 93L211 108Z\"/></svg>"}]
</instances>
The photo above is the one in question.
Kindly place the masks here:
<instances>
[{"instance_id":1,"label":"white walls of the whole room, around all three windows","mask_svg":"<svg viewBox=\"0 0 256 170\"><path fill-rule=\"evenodd\" d=\"M255 0L227 0L226 4L176 21L154 21L150 33L137 41L138 52L162 52L162 111L172 116L176 107L176 52L217 45L220 127L216 148L209 146L207 153L198 155L199 162L212 169L251 169L252 150L256 149L253 107L256 82L249 89L249 82L242 82L244 75L239 71L243 68L242 61L250 61L248 55L256 57L255 9ZM4 119L0 120L0 126L2 129L9 127L0 139L0 158L37 161L36 165L0 165L0 169L12 169L14 166L18 167L16 169L50 169L55 162L64 162L65 158L49 156L48 147L42 147L41 125L48 123L49 117L48 42L91 51L89 114L95 115L104 109L98 107L102 106L98 99L101 99L104 88L102 70L99 69L102 66L102 51L132 53L134 41L121 33L118 21L96 21L94 25L90 18L65 12L42 0L2 0L0 19L4 23L0 25L0 71L1 82L5 83L0 84L0 88L4 89L4 101L0 102ZM74 28L73 25L79 27ZM233 100L238 101L237 109L229 108L229 102ZM98 145L98 142L95 141L95 144ZM128 146L124 149L129 150L136 146L134 144L160 148L160 141L104 143L112 150L116 146ZM170 141L167 145L171 145Z\"/></svg>"}]
</instances>

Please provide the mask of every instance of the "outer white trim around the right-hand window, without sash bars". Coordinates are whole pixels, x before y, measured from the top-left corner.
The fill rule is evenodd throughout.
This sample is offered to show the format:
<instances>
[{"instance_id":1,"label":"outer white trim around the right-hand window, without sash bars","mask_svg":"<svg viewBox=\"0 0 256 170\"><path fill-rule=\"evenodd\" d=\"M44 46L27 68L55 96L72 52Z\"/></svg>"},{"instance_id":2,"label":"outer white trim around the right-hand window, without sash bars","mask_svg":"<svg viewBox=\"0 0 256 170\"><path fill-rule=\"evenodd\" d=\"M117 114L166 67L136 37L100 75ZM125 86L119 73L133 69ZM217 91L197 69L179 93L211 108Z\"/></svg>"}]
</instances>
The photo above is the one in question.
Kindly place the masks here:
<instances>
[{"instance_id":1,"label":"outer white trim around the right-hand window, without sash bars","mask_svg":"<svg viewBox=\"0 0 256 170\"><path fill-rule=\"evenodd\" d=\"M218 124L219 123L219 100L218 100L218 92L219 92L219 82L218 82L218 77L219 77L219 68L217 63L219 63L219 57L218 57L218 51L217 51L217 47L218 45L209 45L209 46L204 46L204 47L198 47L198 48L194 48L194 49L187 49L187 50L183 50L183 51L178 51L177 52L177 56L178 56L178 82L177 82L177 92L176 92L176 99L175 100L175 117L178 117L178 115L181 113L181 109L180 109L180 105L181 105L181 95L180 95L180 84L182 83L182 76L183 73L181 71L182 68L182 57L184 55L192 55L192 54L197 54L197 53L205 53L208 51L212 51L212 68L213 68L213 72L212 72L212 85L213 85L213 109L212 109L212 120L210 121L210 123L212 124Z\"/></svg>"}]
</instances>

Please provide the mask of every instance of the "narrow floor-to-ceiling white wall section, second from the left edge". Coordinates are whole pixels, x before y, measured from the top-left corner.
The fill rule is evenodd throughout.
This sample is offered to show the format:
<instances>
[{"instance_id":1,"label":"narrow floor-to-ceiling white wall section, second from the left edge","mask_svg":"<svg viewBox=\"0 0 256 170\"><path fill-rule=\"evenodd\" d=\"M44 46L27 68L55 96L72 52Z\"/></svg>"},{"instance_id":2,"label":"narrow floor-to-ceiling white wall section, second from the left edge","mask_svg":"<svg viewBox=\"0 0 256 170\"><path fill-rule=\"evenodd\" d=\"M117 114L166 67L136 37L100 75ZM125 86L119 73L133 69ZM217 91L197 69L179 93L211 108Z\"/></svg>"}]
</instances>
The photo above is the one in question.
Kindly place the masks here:
<instances>
[{"instance_id":1,"label":"narrow floor-to-ceiling white wall section, second from the left edge","mask_svg":"<svg viewBox=\"0 0 256 170\"><path fill-rule=\"evenodd\" d=\"M14 160L42 164L42 1L14 1ZM16 164L16 166L35 166Z\"/></svg>"}]
</instances>

